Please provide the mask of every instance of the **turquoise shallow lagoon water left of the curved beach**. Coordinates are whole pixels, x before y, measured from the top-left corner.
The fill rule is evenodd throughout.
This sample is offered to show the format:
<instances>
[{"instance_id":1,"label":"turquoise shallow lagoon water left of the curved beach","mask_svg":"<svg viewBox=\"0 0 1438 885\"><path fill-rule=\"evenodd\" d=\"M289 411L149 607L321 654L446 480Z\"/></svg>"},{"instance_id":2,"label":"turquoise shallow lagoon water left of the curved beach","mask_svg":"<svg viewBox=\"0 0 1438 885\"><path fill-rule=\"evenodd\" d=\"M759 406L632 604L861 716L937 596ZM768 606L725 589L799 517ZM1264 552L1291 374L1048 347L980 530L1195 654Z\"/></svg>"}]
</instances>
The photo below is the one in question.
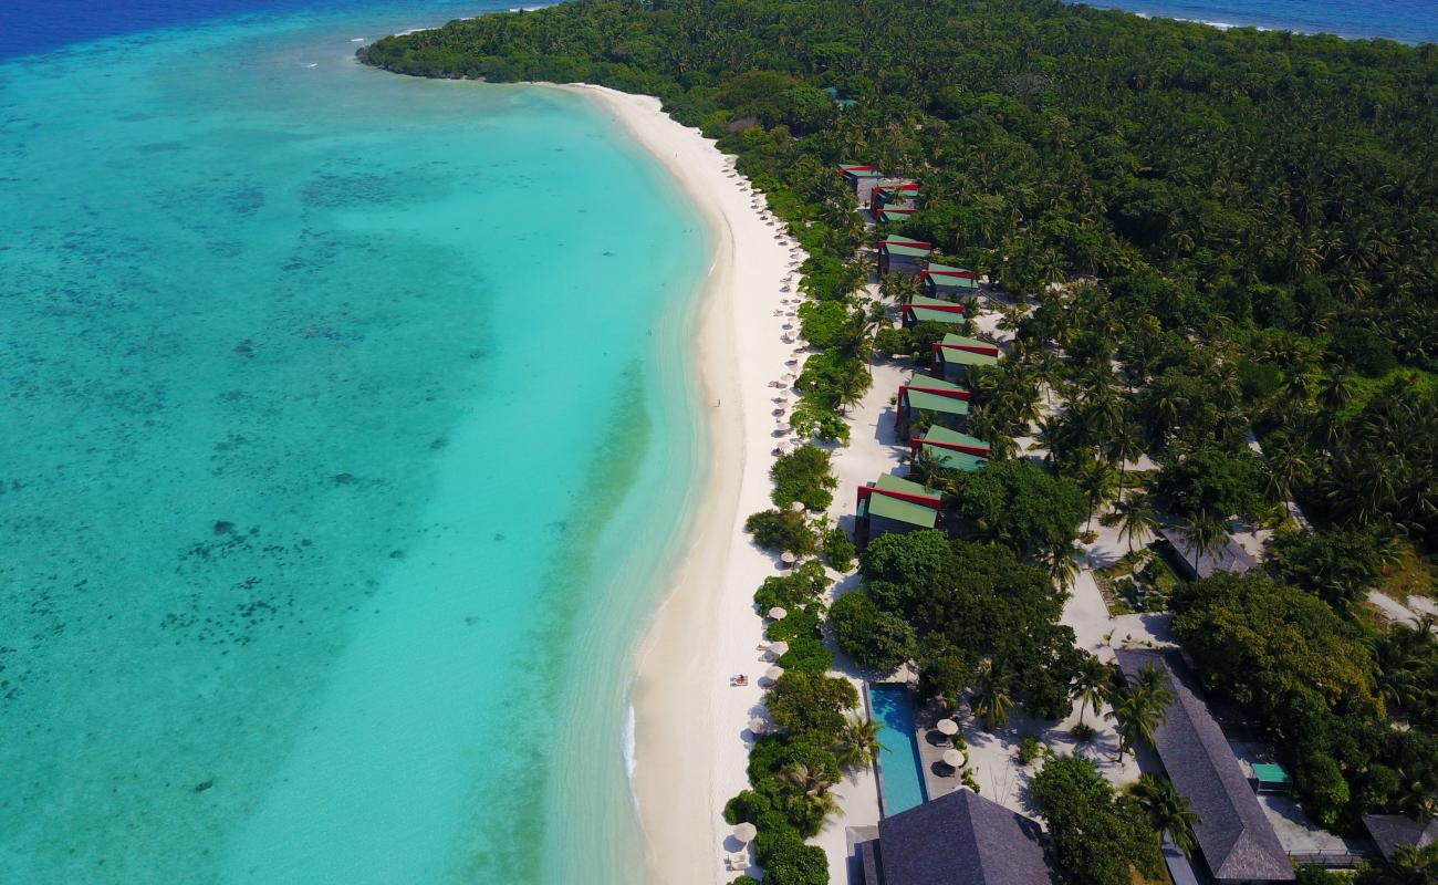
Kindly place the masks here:
<instances>
[{"instance_id":1,"label":"turquoise shallow lagoon water left of the curved beach","mask_svg":"<svg viewBox=\"0 0 1438 885\"><path fill-rule=\"evenodd\" d=\"M424 12L0 63L0 882L643 879L709 240Z\"/></svg>"}]
</instances>

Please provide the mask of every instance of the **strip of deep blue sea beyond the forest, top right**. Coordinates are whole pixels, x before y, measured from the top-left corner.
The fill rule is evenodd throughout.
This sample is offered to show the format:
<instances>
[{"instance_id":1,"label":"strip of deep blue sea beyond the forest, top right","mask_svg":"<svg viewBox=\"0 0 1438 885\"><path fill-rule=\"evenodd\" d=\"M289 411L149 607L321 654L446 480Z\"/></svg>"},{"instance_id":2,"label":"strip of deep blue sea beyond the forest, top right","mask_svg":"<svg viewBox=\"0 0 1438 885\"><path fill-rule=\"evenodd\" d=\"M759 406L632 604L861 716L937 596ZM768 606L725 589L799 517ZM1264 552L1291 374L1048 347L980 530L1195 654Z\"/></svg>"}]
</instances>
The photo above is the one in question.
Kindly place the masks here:
<instances>
[{"instance_id":1,"label":"strip of deep blue sea beyond the forest, top right","mask_svg":"<svg viewBox=\"0 0 1438 885\"><path fill-rule=\"evenodd\" d=\"M1340 37L1438 42L1438 0L1086 0L1145 16Z\"/></svg>"}]
</instances>

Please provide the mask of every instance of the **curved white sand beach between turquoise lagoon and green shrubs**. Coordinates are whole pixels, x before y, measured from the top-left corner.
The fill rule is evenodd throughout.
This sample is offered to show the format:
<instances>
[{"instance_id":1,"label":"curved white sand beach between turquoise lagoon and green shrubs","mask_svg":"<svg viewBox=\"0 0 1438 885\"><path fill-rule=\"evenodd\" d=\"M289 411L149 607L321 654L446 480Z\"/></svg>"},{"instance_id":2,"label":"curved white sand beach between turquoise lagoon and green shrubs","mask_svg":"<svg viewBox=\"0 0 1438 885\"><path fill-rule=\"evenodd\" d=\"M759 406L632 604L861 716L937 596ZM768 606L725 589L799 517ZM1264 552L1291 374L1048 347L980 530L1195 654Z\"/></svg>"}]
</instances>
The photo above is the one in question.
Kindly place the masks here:
<instances>
[{"instance_id":1,"label":"curved white sand beach between turquoise lagoon and green shrubs","mask_svg":"<svg viewBox=\"0 0 1438 885\"><path fill-rule=\"evenodd\" d=\"M728 882L723 803L746 784L745 728L758 709L762 623L752 597L774 560L743 535L743 519L769 507L775 409L769 387L795 345L775 317L792 273L794 242L754 209L754 191L697 130L669 118L657 98L600 86L564 86L613 114L670 170L709 223L715 262L700 295L699 378L710 404L710 475L700 515L640 652L634 682L634 790L650 879ZM742 262L738 258L742 256ZM797 325L797 321L794 321ZM715 406L715 403L719 403ZM729 676L749 685L732 688Z\"/></svg>"}]
</instances>

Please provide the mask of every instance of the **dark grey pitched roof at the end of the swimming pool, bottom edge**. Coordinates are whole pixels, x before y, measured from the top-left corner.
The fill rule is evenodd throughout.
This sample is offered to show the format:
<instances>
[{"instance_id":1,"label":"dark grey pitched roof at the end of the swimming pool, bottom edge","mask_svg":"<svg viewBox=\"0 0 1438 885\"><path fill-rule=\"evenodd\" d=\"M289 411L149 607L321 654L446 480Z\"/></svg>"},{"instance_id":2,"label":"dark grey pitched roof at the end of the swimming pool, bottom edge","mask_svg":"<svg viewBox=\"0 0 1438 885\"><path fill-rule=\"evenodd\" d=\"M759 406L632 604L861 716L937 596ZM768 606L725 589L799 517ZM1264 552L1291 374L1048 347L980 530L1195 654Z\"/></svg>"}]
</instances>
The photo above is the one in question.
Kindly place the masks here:
<instances>
[{"instance_id":1,"label":"dark grey pitched roof at the end of the swimming pool, bottom edge","mask_svg":"<svg viewBox=\"0 0 1438 885\"><path fill-rule=\"evenodd\" d=\"M1037 822L961 789L879 822L854 846L857 885L1055 882Z\"/></svg>"}]
</instances>

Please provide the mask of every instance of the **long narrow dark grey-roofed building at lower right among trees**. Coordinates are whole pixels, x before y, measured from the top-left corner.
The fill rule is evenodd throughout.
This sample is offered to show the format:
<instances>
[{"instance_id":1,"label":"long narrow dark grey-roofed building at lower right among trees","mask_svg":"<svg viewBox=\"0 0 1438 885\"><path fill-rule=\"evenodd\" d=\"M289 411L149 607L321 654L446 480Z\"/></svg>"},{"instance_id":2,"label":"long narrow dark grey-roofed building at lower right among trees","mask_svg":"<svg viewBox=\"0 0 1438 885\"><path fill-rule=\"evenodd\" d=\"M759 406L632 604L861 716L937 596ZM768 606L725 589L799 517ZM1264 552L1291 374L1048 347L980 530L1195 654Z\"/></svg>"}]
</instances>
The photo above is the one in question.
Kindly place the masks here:
<instances>
[{"instance_id":1,"label":"long narrow dark grey-roofed building at lower right among trees","mask_svg":"<svg viewBox=\"0 0 1438 885\"><path fill-rule=\"evenodd\" d=\"M1291 882L1288 855L1204 701L1175 675L1160 652L1117 649L1117 658L1125 679L1132 682L1152 666L1165 675L1175 695L1166 720L1153 731L1153 748L1169 780L1201 819L1194 835L1212 879ZM1196 856L1194 863L1199 863Z\"/></svg>"}]
</instances>

